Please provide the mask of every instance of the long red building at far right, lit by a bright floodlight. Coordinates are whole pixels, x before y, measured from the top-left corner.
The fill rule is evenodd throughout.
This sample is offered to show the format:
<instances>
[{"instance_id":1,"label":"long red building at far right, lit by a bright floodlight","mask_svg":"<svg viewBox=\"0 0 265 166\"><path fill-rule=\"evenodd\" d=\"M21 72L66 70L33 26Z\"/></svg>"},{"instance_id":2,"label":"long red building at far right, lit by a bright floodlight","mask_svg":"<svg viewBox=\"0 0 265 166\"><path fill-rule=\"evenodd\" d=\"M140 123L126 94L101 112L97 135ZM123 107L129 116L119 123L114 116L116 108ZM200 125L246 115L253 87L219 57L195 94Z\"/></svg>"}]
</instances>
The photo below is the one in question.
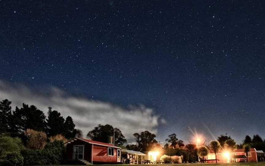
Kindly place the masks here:
<instances>
[{"instance_id":1,"label":"long red building at far right, lit by a bright floodlight","mask_svg":"<svg viewBox=\"0 0 265 166\"><path fill-rule=\"evenodd\" d=\"M258 152L255 148L251 148L248 152L248 162L258 162ZM264 154L264 153L263 153ZM225 152L221 150L217 153L217 163L230 162L246 162L247 157L244 149L234 149L233 152ZM215 153L210 151L206 157L207 163L215 163Z\"/></svg>"}]
</instances>

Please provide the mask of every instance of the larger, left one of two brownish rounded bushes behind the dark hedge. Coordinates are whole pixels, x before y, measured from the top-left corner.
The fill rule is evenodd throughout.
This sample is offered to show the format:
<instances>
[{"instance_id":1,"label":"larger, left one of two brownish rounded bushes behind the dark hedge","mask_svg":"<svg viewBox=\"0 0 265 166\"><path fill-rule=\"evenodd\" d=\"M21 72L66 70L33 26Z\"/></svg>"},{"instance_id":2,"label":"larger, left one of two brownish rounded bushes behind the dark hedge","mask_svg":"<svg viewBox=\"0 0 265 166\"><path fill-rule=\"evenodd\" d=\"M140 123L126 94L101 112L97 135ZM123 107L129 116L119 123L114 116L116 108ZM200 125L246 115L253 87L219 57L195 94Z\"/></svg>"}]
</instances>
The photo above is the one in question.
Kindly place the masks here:
<instances>
[{"instance_id":1,"label":"larger, left one of two brownish rounded bushes behind the dark hedge","mask_svg":"<svg viewBox=\"0 0 265 166\"><path fill-rule=\"evenodd\" d=\"M47 143L47 134L43 131L27 129L25 135L28 137L27 147L30 149L43 149Z\"/></svg>"}]
</instances>

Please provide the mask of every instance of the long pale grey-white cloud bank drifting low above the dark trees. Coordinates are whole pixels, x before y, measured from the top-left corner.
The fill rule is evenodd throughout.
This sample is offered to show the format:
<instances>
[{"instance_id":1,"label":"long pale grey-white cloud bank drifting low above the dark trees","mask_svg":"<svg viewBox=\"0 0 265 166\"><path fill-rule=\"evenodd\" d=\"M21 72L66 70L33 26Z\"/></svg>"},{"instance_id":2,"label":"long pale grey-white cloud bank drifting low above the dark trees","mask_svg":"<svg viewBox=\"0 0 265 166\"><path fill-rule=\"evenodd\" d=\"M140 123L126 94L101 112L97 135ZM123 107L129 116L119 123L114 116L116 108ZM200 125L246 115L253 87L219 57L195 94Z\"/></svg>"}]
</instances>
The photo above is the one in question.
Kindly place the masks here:
<instances>
[{"instance_id":1,"label":"long pale grey-white cloud bank drifting low above the dark trees","mask_svg":"<svg viewBox=\"0 0 265 166\"><path fill-rule=\"evenodd\" d=\"M56 87L36 90L23 84L11 84L0 80L0 100L4 99L12 101L13 109L25 103L35 105L46 116L48 107L59 111L64 118L71 116L76 128L83 131L84 137L98 124L110 124L119 128L128 142L132 142L132 134L145 130L156 134L159 125L159 115L144 105L123 108L108 102L72 96ZM160 122L166 123L164 119Z\"/></svg>"}]
</instances>

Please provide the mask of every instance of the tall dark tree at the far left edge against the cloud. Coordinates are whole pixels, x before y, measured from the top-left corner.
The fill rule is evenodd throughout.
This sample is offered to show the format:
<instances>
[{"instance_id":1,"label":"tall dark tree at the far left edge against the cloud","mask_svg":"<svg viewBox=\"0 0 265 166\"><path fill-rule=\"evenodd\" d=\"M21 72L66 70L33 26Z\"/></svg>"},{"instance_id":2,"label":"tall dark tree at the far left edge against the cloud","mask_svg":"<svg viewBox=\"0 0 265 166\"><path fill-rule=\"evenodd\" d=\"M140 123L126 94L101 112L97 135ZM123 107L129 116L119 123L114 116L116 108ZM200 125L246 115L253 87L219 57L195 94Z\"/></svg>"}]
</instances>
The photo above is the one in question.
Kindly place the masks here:
<instances>
[{"instance_id":1,"label":"tall dark tree at the far left edge against the cloud","mask_svg":"<svg viewBox=\"0 0 265 166\"><path fill-rule=\"evenodd\" d=\"M11 116L11 101L2 100L0 102L0 134L9 131Z\"/></svg>"}]
</instances>

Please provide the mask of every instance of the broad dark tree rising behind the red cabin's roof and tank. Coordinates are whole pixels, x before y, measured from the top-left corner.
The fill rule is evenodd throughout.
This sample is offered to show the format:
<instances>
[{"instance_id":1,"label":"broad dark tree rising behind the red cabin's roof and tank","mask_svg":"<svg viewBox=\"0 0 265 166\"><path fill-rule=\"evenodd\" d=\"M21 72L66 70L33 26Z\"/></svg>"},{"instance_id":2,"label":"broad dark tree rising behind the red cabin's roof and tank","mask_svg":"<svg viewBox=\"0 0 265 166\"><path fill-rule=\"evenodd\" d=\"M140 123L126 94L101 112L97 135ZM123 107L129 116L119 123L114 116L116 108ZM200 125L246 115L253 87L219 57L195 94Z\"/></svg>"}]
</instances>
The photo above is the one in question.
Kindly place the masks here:
<instances>
[{"instance_id":1,"label":"broad dark tree rising behind the red cabin's roof and tank","mask_svg":"<svg viewBox=\"0 0 265 166\"><path fill-rule=\"evenodd\" d=\"M113 128L113 126L106 124L105 126L99 124L93 130L89 131L86 135L94 141L107 141L107 136L113 136L115 133L115 145L123 145L127 140L118 128Z\"/></svg>"}]
</instances>

